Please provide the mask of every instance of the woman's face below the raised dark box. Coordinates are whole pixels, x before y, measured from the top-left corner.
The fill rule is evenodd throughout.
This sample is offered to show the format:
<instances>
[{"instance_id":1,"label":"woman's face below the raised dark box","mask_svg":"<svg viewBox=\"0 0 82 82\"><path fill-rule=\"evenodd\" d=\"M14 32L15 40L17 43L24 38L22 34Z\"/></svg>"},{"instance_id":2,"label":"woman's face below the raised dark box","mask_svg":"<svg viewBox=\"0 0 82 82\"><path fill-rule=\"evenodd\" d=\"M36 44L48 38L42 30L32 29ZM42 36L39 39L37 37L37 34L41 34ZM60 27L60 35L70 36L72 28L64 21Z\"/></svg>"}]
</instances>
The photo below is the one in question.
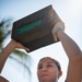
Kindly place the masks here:
<instances>
[{"instance_id":1,"label":"woman's face below the raised dark box","mask_svg":"<svg viewBox=\"0 0 82 82\"><path fill-rule=\"evenodd\" d=\"M39 82L57 82L60 72L50 58L44 58L38 63L37 77Z\"/></svg>"}]
</instances>

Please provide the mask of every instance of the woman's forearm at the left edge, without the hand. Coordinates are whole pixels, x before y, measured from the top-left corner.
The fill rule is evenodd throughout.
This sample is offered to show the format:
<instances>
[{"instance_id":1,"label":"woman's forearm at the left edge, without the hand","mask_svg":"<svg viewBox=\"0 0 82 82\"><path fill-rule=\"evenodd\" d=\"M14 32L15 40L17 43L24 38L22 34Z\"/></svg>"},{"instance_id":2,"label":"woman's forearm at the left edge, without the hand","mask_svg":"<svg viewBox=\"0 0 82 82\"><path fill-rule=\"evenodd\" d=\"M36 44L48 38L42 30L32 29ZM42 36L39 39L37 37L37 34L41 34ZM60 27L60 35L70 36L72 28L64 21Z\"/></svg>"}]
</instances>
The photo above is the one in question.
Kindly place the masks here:
<instances>
[{"instance_id":1,"label":"woman's forearm at the left edge, without the hand","mask_svg":"<svg viewBox=\"0 0 82 82\"><path fill-rule=\"evenodd\" d=\"M14 50L15 48L15 45L14 45L14 42L11 40L7 47L0 52L0 73L1 73L1 70L4 66L4 62L7 60L7 58L10 56L10 54Z\"/></svg>"}]
</instances>

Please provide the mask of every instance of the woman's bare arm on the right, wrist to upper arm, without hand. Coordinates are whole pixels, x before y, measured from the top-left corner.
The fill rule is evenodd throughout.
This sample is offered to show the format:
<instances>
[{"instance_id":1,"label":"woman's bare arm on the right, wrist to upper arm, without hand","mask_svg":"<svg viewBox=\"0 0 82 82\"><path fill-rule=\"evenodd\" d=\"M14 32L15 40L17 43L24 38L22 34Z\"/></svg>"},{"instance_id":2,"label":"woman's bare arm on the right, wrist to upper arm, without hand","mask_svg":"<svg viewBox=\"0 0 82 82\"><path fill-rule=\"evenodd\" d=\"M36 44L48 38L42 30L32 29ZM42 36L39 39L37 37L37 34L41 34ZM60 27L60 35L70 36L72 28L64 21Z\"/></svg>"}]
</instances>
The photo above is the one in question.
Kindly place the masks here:
<instances>
[{"instance_id":1,"label":"woman's bare arm on the right, wrist to upper arm, without hand","mask_svg":"<svg viewBox=\"0 0 82 82\"><path fill-rule=\"evenodd\" d=\"M62 30L57 34L69 58L67 82L81 82L82 78L82 52L75 42Z\"/></svg>"}]
</instances>

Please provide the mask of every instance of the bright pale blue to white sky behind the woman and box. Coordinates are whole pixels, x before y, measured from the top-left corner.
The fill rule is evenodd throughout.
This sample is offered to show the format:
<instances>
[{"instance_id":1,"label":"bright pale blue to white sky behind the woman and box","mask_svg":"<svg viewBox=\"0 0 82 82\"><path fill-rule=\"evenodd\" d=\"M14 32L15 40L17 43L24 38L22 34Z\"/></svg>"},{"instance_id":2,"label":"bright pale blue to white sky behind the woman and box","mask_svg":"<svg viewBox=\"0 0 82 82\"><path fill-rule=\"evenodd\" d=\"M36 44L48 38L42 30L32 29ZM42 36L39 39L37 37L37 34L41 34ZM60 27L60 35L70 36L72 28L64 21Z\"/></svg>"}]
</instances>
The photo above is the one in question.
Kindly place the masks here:
<instances>
[{"instance_id":1,"label":"bright pale blue to white sky behind the woman and box","mask_svg":"<svg viewBox=\"0 0 82 82\"><path fill-rule=\"evenodd\" d=\"M0 0L0 19L13 17L13 22L20 20L39 9L52 4L54 9L66 24L66 33L71 36L82 49L82 1L81 0ZM11 37L10 37L11 38ZM8 42L9 43L9 42ZM71 47L71 45L70 45ZM61 43L52 44L28 54L33 58L32 82L38 82L36 67L38 60L44 56L50 56L59 60L62 67L63 75L59 82L63 82L67 74L68 58L61 46ZM8 68L8 69L5 69ZM11 69L10 69L11 68ZM9 75L7 70L10 70ZM12 71L13 70L13 71ZM27 82L25 77L16 71L8 60L2 75L9 78L11 82ZM13 73L11 75L11 73ZM20 81L20 78L22 79ZM16 79L16 81L15 81Z\"/></svg>"}]
</instances>

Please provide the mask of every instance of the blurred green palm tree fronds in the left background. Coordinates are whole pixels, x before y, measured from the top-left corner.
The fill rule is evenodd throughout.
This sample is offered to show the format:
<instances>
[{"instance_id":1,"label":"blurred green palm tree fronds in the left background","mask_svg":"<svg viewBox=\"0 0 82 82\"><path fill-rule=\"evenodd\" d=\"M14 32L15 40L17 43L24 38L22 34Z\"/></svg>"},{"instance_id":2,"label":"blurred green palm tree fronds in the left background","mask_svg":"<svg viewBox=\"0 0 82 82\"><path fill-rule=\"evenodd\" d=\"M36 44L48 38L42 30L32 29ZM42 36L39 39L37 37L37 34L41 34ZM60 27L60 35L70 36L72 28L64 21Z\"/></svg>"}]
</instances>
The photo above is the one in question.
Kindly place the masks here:
<instances>
[{"instance_id":1,"label":"blurred green palm tree fronds in the left background","mask_svg":"<svg viewBox=\"0 0 82 82\"><path fill-rule=\"evenodd\" d=\"M7 37L11 35L11 31L12 31L12 19L1 20L0 21L0 51L3 48L3 42L8 40ZM26 70L26 72L31 78L30 66L27 65L27 62L31 65L31 57L26 52L15 49L10 55L9 58L15 60L19 65L23 66L23 68Z\"/></svg>"}]
</instances>

